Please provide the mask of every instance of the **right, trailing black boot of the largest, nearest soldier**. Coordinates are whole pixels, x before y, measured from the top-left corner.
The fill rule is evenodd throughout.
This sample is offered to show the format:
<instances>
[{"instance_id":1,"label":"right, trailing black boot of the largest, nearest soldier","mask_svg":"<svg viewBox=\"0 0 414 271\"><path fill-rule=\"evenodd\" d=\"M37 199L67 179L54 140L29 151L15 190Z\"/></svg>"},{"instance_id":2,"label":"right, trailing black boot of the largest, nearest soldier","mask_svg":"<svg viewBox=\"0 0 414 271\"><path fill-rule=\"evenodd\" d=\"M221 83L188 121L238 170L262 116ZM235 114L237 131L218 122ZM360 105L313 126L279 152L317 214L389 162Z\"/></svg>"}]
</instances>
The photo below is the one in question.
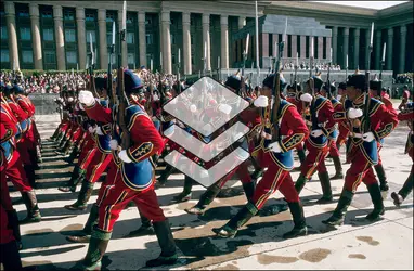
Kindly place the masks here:
<instances>
[{"instance_id":1,"label":"right, trailing black boot of the largest, nearest soldier","mask_svg":"<svg viewBox=\"0 0 414 271\"><path fill-rule=\"evenodd\" d=\"M159 222L154 222L154 231L157 235L158 244L161 248L161 254L158 258L148 260L146 267L171 266L177 262L178 255L176 242L173 241L172 232L168 219Z\"/></svg>"}]
</instances>

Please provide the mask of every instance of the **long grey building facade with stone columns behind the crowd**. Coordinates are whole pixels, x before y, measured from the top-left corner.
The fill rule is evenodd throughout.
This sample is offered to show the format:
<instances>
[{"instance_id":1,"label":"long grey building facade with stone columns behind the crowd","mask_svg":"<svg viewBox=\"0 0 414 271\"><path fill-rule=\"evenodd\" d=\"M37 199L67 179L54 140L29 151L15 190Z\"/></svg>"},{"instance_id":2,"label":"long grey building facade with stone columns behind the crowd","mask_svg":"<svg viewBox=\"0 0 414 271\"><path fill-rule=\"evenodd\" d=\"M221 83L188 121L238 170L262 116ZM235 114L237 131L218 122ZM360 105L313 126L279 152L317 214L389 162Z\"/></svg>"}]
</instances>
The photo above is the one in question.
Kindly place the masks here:
<instances>
[{"instance_id":1,"label":"long grey building facade with stone columns behind the crowd","mask_svg":"<svg viewBox=\"0 0 414 271\"><path fill-rule=\"evenodd\" d=\"M127 36L121 52L122 66L153 64L153 69L190 75L206 63L207 70L237 68L245 31L250 33L249 63L256 60L254 1L129 1ZM371 23L375 23L371 68L379 69L384 43L387 43L385 69L394 73L413 68L413 2L385 10L298 1L260 1L258 14L292 18L289 28L313 20L323 29L292 31L285 59L309 57L310 40L320 61L349 68L365 68L368 57ZM96 52L96 67L106 69L109 61L112 29L121 24L122 1L3 1L1 15L1 68L83 69L90 41ZM276 33L260 34L260 59L274 56L273 42L281 39L284 25ZM250 29L250 30L249 30ZM326 31L324 31L324 29ZM280 33L277 33L280 31ZM316 36L321 33L321 36ZM242 36L241 36L242 35ZM180 51L180 55L179 55ZM206 54L206 55L205 55ZM180 59L179 59L180 56ZM112 56L114 67L117 55ZM264 62L264 63L263 63ZM266 61L260 61L266 66Z\"/></svg>"}]
</instances>

